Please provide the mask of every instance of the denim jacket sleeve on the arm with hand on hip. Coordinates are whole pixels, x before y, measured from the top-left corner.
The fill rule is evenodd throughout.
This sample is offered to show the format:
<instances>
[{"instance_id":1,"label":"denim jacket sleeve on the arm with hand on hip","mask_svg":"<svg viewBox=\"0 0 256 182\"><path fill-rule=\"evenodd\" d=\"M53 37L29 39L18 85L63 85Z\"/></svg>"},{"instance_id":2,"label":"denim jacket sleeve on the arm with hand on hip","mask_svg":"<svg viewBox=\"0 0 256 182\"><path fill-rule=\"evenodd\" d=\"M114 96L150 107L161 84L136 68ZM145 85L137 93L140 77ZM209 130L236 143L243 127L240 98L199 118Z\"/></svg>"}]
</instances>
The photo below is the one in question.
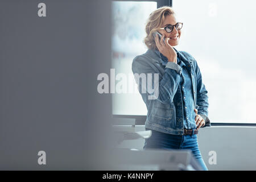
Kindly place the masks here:
<instances>
[{"instance_id":1,"label":"denim jacket sleeve on the arm with hand on hip","mask_svg":"<svg viewBox=\"0 0 256 182\"><path fill-rule=\"evenodd\" d=\"M207 96L207 89L205 88L205 85L203 83L202 80L202 75L200 72L200 68L197 65L196 60L195 61L195 72L196 72L196 82L197 82L197 100L196 100L196 105L197 105L197 114L201 115L201 117L204 119L205 121L205 125L206 126L210 126L210 119L208 118L208 107L209 107L209 103L208 103L208 96Z\"/></svg>"}]
</instances>

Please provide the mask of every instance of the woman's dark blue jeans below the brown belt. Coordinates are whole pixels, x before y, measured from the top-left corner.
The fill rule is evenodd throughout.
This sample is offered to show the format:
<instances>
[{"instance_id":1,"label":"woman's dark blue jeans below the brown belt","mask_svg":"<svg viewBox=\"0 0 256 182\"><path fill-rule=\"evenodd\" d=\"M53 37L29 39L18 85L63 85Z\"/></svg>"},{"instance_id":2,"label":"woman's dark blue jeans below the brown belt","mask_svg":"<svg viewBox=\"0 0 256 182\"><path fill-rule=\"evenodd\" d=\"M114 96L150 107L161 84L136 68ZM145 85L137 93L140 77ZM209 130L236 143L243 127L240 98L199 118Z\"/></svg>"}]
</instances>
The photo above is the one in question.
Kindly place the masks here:
<instances>
[{"instance_id":1,"label":"woman's dark blue jeans below the brown belt","mask_svg":"<svg viewBox=\"0 0 256 182\"><path fill-rule=\"evenodd\" d=\"M146 129L147 130L147 129ZM152 135L150 138L145 140L144 150L150 148L159 148L164 150L170 149L186 149L191 150L194 158L200 164L200 166L208 171L207 166L201 156L199 146L197 143L197 135L172 135L162 133L159 131L151 130Z\"/></svg>"}]
</instances>

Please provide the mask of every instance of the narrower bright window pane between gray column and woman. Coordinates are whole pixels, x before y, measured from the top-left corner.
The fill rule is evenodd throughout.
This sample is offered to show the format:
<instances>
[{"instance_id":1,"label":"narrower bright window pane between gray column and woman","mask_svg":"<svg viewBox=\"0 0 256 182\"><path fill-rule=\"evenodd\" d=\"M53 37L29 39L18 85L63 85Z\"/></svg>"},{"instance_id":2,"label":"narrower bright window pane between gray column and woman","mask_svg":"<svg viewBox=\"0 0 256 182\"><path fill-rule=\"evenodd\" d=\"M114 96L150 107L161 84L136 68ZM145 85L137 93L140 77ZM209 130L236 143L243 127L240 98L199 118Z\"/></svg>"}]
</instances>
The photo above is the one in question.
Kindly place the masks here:
<instances>
[{"instance_id":1,"label":"narrower bright window pane between gray column and woman","mask_svg":"<svg viewBox=\"0 0 256 182\"><path fill-rule=\"evenodd\" d=\"M112 2L112 68L115 76L119 73L127 77L127 92L112 94L112 113L117 115L147 115L147 108L131 71L135 56L147 51L143 44L144 30L150 13L157 8L157 2ZM118 86L118 82L116 82ZM131 90L131 92L129 92Z\"/></svg>"}]
</instances>

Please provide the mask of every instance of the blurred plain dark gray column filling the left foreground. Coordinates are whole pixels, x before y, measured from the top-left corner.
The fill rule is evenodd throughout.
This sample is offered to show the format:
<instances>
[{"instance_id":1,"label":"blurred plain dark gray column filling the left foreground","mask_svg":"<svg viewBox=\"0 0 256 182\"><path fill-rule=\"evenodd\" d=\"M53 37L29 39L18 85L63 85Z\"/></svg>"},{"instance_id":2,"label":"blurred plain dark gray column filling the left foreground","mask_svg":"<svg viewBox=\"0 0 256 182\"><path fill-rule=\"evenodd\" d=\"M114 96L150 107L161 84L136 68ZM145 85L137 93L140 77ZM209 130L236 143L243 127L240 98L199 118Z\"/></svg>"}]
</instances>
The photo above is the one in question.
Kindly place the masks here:
<instances>
[{"instance_id":1,"label":"blurred plain dark gray column filling the left foreground","mask_svg":"<svg viewBox=\"0 0 256 182\"><path fill-rule=\"evenodd\" d=\"M0 169L108 166L110 0L0 1ZM38 164L46 152L46 165Z\"/></svg>"}]
</instances>

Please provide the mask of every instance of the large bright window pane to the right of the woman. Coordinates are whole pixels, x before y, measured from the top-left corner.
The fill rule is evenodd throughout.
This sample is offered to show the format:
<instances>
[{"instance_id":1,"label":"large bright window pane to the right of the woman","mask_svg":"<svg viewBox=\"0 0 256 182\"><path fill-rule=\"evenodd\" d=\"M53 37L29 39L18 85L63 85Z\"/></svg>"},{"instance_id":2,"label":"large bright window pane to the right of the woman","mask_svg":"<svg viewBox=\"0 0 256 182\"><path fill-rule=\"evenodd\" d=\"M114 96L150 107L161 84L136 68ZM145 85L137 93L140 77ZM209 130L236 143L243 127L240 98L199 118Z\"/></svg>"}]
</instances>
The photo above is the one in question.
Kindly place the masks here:
<instances>
[{"instance_id":1,"label":"large bright window pane to the right of the woman","mask_svg":"<svg viewBox=\"0 0 256 182\"><path fill-rule=\"evenodd\" d=\"M184 22L178 50L195 57L209 96L209 118L255 123L254 1L173 0Z\"/></svg>"}]
</instances>

